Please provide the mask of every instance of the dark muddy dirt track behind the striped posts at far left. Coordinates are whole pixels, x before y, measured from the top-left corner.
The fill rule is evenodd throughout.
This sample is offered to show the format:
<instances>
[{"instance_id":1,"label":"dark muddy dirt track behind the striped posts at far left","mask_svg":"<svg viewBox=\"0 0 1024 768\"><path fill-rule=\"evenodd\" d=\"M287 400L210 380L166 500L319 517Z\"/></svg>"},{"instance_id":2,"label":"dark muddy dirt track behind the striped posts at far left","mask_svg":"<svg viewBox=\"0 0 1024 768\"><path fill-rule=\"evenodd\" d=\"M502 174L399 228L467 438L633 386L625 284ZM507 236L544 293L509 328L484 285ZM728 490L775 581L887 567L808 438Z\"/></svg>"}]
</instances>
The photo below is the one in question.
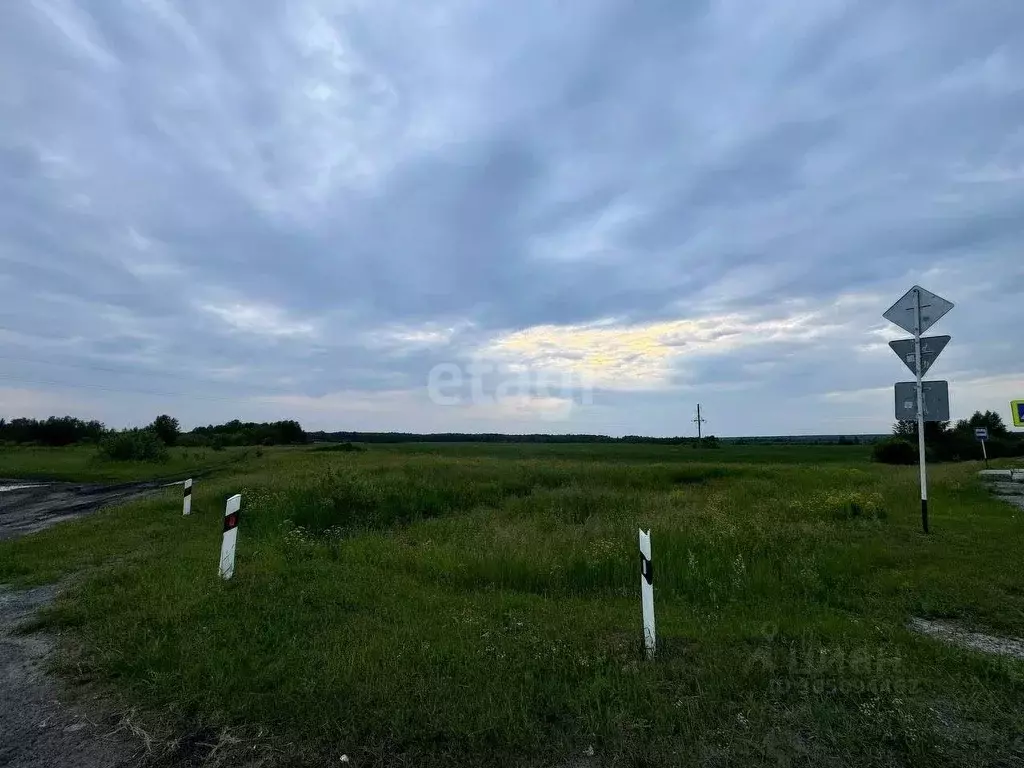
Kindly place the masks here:
<instances>
[{"instance_id":1,"label":"dark muddy dirt track behind the striped posts at far left","mask_svg":"<svg viewBox=\"0 0 1024 768\"><path fill-rule=\"evenodd\" d=\"M173 483L157 480L120 485L81 482L34 485L28 480L0 480L0 541L35 534L63 520L144 496L168 484ZM4 490L4 487L13 489Z\"/></svg>"}]
</instances>

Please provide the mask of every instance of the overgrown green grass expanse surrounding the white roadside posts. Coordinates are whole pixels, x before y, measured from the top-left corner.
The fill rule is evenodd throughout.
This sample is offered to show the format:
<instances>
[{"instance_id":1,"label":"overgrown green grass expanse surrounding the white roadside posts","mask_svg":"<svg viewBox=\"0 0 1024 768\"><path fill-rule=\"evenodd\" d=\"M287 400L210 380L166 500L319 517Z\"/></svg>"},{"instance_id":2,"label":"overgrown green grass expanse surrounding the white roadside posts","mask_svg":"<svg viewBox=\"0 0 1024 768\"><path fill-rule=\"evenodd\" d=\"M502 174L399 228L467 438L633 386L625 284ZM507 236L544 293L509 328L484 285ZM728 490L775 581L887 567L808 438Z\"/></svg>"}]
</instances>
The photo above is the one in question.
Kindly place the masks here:
<instances>
[{"instance_id":1,"label":"overgrown green grass expanse surrounding the white roadside posts","mask_svg":"<svg viewBox=\"0 0 1024 768\"><path fill-rule=\"evenodd\" d=\"M75 649L66 672L158 729L227 728L240 760L1024 760L1024 663L905 629L931 616L1024 636L1021 513L977 465L934 467L923 536L916 468L867 454L268 450L200 482L189 518L174 490L2 543L0 582L74 575L46 616ZM638 526L652 531L653 663Z\"/></svg>"}]
</instances>

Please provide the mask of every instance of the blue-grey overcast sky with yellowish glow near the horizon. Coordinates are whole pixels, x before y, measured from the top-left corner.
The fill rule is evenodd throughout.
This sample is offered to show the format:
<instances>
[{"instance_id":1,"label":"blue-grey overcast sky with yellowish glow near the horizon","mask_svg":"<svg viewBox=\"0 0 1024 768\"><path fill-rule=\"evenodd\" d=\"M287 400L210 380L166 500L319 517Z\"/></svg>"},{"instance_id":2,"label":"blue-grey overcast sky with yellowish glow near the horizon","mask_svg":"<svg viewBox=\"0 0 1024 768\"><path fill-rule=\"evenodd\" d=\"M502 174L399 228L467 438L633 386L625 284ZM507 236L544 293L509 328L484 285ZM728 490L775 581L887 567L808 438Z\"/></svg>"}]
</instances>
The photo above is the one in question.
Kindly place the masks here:
<instances>
[{"instance_id":1,"label":"blue-grey overcast sky with yellowish glow near the horizon","mask_svg":"<svg viewBox=\"0 0 1024 768\"><path fill-rule=\"evenodd\" d=\"M1021 0L16 0L0 416L888 431L1024 397Z\"/></svg>"}]
</instances>

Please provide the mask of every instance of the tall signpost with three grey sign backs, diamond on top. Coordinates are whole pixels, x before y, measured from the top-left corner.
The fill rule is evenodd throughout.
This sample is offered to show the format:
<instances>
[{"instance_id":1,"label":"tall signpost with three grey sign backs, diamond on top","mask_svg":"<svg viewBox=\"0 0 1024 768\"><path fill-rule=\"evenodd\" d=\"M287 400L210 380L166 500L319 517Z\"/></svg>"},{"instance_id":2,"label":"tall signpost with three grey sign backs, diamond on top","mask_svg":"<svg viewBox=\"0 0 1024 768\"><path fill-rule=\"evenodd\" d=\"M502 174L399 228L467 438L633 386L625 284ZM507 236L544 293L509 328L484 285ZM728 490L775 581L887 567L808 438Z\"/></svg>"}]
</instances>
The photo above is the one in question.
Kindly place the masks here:
<instances>
[{"instance_id":1,"label":"tall signpost with three grey sign backs, diamond on top","mask_svg":"<svg viewBox=\"0 0 1024 768\"><path fill-rule=\"evenodd\" d=\"M921 527L928 532L928 459L925 453L925 422L949 421L949 389L944 381L925 381L925 374L949 343L948 336L922 338L922 334L939 322L953 303L914 286L900 300L887 309L882 316L913 334L912 339L890 342L907 368L914 374L915 381L896 384L896 419L918 421L918 457L921 465ZM911 346L912 344L912 346ZM912 351L911 351L912 350ZM908 392L908 387L913 392Z\"/></svg>"}]
</instances>

